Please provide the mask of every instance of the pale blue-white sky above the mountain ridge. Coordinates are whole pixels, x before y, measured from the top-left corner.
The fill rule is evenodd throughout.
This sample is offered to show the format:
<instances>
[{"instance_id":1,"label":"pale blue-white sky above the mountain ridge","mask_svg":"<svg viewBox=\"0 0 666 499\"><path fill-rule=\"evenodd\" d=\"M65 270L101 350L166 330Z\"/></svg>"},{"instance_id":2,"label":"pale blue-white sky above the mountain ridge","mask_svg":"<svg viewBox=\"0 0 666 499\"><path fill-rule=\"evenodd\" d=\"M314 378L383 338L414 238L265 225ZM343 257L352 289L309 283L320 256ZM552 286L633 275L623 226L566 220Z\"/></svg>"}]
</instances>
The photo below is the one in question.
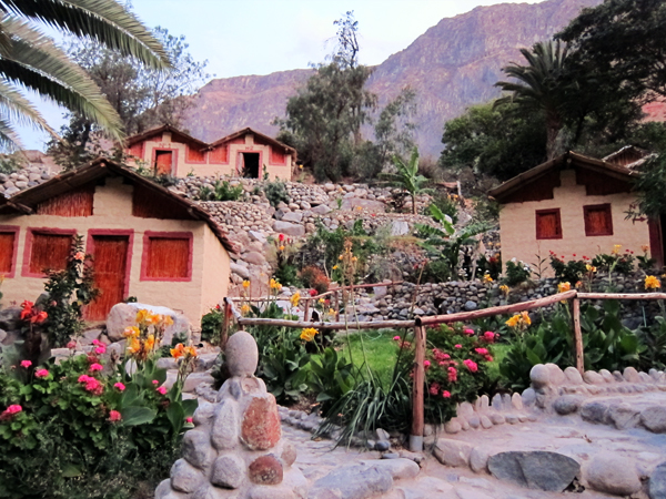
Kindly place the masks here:
<instances>
[{"instance_id":1,"label":"pale blue-white sky above the mountain ridge","mask_svg":"<svg viewBox=\"0 0 666 499\"><path fill-rule=\"evenodd\" d=\"M374 65L406 49L441 19L500 0L132 0L143 23L185 37L198 61L215 78L269 74L324 61L346 11L359 21L360 61ZM534 3L528 1L527 3ZM49 124L63 110L32 98ZM19 129L27 149L44 149L46 134Z\"/></svg>"}]
</instances>

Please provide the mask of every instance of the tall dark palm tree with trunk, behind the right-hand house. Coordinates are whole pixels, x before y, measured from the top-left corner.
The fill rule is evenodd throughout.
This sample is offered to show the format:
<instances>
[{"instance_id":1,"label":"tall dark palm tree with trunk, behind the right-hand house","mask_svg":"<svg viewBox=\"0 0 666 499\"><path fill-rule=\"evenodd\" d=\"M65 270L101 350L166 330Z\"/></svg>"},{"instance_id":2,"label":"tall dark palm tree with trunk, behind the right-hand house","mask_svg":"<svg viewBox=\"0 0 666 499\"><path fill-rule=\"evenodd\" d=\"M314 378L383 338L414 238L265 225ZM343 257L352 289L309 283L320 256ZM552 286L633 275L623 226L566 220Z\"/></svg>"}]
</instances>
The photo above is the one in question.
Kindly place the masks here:
<instances>
[{"instance_id":1,"label":"tall dark palm tree with trunk, behind the right-hand house","mask_svg":"<svg viewBox=\"0 0 666 499\"><path fill-rule=\"evenodd\" d=\"M512 62L502 68L517 82L498 81L500 86L509 95L495 101L495 106L515 102L526 112L544 112L546 119L546 153L548 160L555 156L555 143L564 126L563 110L566 105L566 84L559 78L566 64L568 50L559 41L535 43L532 51L521 49L527 65Z\"/></svg>"}]
</instances>

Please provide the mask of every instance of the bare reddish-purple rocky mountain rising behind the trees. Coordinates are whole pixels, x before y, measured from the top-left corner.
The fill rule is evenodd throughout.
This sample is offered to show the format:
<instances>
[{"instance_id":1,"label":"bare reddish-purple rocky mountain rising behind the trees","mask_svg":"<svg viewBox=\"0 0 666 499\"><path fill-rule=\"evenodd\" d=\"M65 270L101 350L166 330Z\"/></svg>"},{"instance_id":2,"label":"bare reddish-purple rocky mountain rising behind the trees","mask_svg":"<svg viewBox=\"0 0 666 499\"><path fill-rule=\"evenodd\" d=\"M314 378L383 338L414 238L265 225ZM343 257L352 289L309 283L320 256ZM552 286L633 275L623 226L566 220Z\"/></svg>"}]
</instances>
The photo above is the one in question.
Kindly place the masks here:
<instances>
[{"instance_id":1,"label":"bare reddish-purple rocky mountain rising behind the trees","mask_svg":"<svg viewBox=\"0 0 666 499\"><path fill-rule=\"evenodd\" d=\"M542 3L501 3L477 7L442 19L406 49L374 69L369 81L386 103L406 85L416 91L417 143L423 156L437 157L447 120L471 104L498 95L493 84L503 79L508 62L523 62L521 48L547 40L574 19L582 8L601 0L548 0ZM274 135L271 125L283 116L286 100L312 70L268 75L216 79L194 96L184 125L203 141L213 141L244 126Z\"/></svg>"}]
</instances>

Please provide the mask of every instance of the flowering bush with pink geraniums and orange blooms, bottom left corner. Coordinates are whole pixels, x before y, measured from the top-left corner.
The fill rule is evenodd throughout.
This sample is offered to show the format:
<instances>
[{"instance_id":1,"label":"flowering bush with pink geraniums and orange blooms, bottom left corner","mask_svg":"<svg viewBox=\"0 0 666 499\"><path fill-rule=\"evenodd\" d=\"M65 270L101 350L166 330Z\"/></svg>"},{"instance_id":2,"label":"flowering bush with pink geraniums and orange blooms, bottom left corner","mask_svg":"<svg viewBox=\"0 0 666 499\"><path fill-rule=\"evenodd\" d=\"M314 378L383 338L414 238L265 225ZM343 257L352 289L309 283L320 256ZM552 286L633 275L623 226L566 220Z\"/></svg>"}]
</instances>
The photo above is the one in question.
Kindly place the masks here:
<instances>
[{"instance_id":1,"label":"flowering bush with pink geraniums and orange blooms, bottom left corner","mask_svg":"<svg viewBox=\"0 0 666 499\"><path fill-rule=\"evenodd\" d=\"M120 499L133 497L142 481L150 490L168 476L196 408L196 400L181 395L195 352L175 348L174 356L183 358L176 383L167 389L167 371L154 363L165 319L148 313L145 318L157 325L140 320L128 328L131 375L124 366L130 357L102 365L105 346L99 342L88 355L39 368L12 363L12 352L3 352L0 497Z\"/></svg>"}]
</instances>

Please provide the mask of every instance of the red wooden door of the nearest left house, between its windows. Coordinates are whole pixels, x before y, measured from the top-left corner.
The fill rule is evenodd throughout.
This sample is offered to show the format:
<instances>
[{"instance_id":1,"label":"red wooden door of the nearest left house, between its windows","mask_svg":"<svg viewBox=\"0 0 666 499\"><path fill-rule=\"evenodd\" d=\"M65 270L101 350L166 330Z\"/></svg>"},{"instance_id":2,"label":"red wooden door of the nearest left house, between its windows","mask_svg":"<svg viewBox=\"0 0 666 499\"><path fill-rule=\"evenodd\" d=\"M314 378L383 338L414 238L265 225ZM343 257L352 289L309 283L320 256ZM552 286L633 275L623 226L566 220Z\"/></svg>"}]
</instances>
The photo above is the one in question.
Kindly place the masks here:
<instances>
[{"instance_id":1,"label":"red wooden door of the nearest left house, between its windows","mask_svg":"<svg viewBox=\"0 0 666 499\"><path fill-rule=\"evenodd\" d=\"M92 236L94 286L100 296L85 308L87 320L104 320L109 310L122 302L128 267L129 236Z\"/></svg>"}]
</instances>

